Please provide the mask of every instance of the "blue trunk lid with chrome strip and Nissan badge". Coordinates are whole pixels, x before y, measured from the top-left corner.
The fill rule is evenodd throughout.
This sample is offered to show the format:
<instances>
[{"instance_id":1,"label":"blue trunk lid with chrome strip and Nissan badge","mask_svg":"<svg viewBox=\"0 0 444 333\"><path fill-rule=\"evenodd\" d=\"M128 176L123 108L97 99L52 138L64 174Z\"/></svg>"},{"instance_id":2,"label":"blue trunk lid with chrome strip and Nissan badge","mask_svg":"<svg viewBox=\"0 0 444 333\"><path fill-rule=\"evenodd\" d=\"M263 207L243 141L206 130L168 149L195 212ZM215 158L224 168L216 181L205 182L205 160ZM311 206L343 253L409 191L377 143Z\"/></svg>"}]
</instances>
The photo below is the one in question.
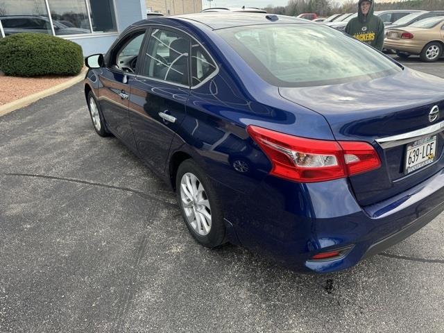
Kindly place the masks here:
<instances>
[{"instance_id":1,"label":"blue trunk lid with chrome strip and Nissan badge","mask_svg":"<svg viewBox=\"0 0 444 333\"><path fill-rule=\"evenodd\" d=\"M443 86L441 78L404 69L399 74L370 81L281 87L280 94L293 103L322 114L337 140L363 141L375 147L382 166L350 177L350 185L359 204L371 205L417 185L444 167L444 158L441 158L444 135L439 124L444 119L443 112L434 121L429 121L429 113L435 105L444 110ZM434 129L433 135L425 135L425 128ZM406 134L409 134L407 138ZM398 139L395 142L387 140L395 135L398 135L398 138L393 138ZM432 140L436 139L434 162L407 173L408 146L413 150L419 149L427 140L418 140L430 136ZM415 146L412 146L413 143Z\"/></svg>"}]
</instances>

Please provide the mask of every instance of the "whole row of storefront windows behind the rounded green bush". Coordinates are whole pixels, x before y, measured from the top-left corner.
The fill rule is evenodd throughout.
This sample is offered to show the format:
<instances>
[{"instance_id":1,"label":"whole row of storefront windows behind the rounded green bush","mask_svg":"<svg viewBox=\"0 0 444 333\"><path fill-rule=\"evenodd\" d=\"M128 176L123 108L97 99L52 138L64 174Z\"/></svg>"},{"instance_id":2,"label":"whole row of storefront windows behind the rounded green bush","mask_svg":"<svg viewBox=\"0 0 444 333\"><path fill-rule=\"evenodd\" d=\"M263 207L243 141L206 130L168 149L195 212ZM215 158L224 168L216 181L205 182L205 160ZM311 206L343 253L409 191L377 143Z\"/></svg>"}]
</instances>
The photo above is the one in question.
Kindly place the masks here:
<instances>
[{"instance_id":1,"label":"whole row of storefront windows behind the rounded green bush","mask_svg":"<svg viewBox=\"0 0 444 333\"><path fill-rule=\"evenodd\" d=\"M113 0L1 0L0 24L0 37L24 32L67 36L117 31Z\"/></svg>"}]
</instances>

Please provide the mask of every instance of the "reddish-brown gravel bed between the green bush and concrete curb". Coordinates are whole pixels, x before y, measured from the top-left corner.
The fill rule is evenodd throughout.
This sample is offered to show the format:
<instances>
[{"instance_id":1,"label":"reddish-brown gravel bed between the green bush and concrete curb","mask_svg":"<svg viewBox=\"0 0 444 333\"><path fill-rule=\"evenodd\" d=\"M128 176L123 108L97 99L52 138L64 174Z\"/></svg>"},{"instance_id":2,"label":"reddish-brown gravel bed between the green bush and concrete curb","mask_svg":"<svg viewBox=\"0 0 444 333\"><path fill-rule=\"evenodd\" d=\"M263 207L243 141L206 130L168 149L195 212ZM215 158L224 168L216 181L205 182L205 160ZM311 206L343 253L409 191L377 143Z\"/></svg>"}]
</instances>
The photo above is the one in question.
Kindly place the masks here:
<instances>
[{"instance_id":1,"label":"reddish-brown gravel bed between the green bush and concrete curb","mask_svg":"<svg viewBox=\"0 0 444 333\"><path fill-rule=\"evenodd\" d=\"M0 76L0 105L22 99L36 92L42 92L60 83L64 83L74 76L38 76L35 78L17 78L14 76Z\"/></svg>"}]
</instances>

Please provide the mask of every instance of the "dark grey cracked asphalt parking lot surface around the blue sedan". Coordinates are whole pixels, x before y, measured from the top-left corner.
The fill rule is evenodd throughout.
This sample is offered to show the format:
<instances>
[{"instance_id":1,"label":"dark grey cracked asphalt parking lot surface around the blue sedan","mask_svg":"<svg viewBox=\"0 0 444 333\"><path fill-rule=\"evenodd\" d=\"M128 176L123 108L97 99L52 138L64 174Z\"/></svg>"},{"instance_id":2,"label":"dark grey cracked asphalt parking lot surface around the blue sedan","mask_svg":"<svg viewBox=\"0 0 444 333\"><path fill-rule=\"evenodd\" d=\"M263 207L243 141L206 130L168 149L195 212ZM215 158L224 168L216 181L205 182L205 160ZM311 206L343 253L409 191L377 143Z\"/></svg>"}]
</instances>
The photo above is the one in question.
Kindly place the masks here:
<instances>
[{"instance_id":1,"label":"dark grey cracked asphalt parking lot surface around the blue sedan","mask_svg":"<svg viewBox=\"0 0 444 333\"><path fill-rule=\"evenodd\" d=\"M330 275L208 250L79 84L0 117L0 332L444 332L443 223Z\"/></svg>"}]
</instances>

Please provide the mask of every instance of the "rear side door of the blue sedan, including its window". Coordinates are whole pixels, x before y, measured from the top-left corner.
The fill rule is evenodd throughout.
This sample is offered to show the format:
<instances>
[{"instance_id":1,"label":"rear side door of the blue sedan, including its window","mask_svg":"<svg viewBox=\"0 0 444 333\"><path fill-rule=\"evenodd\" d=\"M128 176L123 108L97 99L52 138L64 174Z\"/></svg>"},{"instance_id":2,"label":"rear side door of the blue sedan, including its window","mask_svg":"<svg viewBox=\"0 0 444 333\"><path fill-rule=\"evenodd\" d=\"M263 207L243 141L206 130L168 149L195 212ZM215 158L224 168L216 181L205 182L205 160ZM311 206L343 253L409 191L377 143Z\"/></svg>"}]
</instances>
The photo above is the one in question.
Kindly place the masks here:
<instances>
[{"instance_id":1,"label":"rear side door of the blue sedan, including its window","mask_svg":"<svg viewBox=\"0 0 444 333\"><path fill-rule=\"evenodd\" d=\"M145 162L164 173L169 148L185 117L189 95L187 35L151 28L141 75L131 83L130 121Z\"/></svg>"}]
</instances>

